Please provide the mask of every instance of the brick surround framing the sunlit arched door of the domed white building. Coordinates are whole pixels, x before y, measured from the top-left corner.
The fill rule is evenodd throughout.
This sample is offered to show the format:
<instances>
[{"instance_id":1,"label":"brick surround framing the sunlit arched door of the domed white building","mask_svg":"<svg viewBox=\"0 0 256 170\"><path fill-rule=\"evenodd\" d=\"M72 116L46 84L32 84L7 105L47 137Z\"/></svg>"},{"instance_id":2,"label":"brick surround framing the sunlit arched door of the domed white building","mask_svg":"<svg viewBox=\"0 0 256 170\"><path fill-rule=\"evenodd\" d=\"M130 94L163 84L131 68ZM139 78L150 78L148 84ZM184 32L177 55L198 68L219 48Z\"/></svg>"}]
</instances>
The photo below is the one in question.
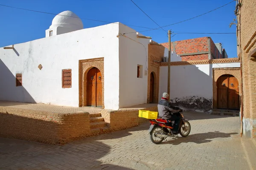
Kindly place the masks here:
<instances>
[{"instance_id":1,"label":"brick surround framing the sunlit arched door of the domed white building","mask_svg":"<svg viewBox=\"0 0 256 170\"><path fill-rule=\"evenodd\" d=\"M104 106L104 58L83 59L79 60L79 107L87 105L87 73L88 71L96 67L102 74L102 108Z\"/></svg>"}]
</instances>

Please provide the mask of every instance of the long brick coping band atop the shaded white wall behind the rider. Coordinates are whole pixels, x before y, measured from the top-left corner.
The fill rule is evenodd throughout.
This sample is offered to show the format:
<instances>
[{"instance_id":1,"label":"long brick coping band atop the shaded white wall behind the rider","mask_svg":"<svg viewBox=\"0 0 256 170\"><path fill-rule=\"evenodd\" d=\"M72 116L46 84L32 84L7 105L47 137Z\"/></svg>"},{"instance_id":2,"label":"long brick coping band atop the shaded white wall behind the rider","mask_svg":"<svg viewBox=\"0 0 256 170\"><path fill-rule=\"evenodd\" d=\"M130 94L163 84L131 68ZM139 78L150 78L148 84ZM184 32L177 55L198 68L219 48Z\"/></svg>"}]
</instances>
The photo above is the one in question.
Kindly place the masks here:
<instances>
[{"instance_id":1,"label":"long brick coping band atop the shaded white wall behind the rider","mask_svg":"<svg viewBox=\"0 0 256 170\"><path fill-rule=\"evenodd\" d=\"M171 62L171 65L199 65L199 64L218 64L218 63L231 63L240 62L238 58L224 58L224 59L203 59L193 61L177 61ZM161 62L160 66L168 66L168 62Z\"/></svg>"}]
</instances>

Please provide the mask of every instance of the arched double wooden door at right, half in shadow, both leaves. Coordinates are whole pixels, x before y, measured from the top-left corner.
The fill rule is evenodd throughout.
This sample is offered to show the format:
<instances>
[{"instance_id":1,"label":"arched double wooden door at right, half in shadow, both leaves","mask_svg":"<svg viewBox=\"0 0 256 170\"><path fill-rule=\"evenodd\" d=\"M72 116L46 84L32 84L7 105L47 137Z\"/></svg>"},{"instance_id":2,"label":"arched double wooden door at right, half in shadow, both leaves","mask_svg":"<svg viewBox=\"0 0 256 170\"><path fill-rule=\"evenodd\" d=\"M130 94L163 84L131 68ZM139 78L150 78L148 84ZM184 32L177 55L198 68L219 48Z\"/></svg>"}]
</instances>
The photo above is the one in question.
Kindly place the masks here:
<instances>
[{"instance_id":1,"label":"arched double wooden door at right, half in shadow, both leaves","mask_svg":"<svg viewBox=\"0 0 256 170\"><path fill-rule=\"evenodd\" d=\"M217 80L218 108L239 109L239 84L232 75L223 75Z\"/></svg>"}]
</instances>

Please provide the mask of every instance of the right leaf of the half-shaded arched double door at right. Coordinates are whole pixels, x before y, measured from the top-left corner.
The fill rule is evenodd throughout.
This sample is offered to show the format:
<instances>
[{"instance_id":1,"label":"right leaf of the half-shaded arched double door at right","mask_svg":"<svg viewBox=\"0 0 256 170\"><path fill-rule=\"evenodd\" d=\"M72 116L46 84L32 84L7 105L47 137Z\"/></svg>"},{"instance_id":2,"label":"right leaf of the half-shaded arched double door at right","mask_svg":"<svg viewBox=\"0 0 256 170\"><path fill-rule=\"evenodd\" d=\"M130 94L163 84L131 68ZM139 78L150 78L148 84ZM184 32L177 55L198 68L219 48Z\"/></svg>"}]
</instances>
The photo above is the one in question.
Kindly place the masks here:
<instances>
[{"instance_id":1,"label":"right leaf of the half-shaded arched double door at right","mask_svg":"<svg viewBox=\"0 0 256 170\"><path fill-rule=\"evenodd\" d=\"M239 87L235 77L229 77L228 108L239 109Z\"/></svg>"}]
</instances>

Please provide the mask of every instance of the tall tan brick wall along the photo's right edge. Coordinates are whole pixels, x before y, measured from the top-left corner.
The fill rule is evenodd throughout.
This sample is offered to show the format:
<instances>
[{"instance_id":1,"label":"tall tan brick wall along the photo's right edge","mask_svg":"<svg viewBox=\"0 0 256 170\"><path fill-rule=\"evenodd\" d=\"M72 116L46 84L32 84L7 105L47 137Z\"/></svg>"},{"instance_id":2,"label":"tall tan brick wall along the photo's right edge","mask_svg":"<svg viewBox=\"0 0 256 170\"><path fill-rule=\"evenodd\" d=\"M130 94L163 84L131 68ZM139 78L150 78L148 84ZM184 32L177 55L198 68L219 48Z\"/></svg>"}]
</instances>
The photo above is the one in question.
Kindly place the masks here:
<instances>
[{"instance_id":1,"label":"tall tan brick wall along the photo's right edge","mask_svg":"<svg viewBox=\"0 0 256 170\"><path fill-rule=\"evenodd\" d=\"M256 59L250 58L256 50L256 0L240 0L237 36L241 40L244 136L256 138Z\"/></svg>"}]
</instances>

